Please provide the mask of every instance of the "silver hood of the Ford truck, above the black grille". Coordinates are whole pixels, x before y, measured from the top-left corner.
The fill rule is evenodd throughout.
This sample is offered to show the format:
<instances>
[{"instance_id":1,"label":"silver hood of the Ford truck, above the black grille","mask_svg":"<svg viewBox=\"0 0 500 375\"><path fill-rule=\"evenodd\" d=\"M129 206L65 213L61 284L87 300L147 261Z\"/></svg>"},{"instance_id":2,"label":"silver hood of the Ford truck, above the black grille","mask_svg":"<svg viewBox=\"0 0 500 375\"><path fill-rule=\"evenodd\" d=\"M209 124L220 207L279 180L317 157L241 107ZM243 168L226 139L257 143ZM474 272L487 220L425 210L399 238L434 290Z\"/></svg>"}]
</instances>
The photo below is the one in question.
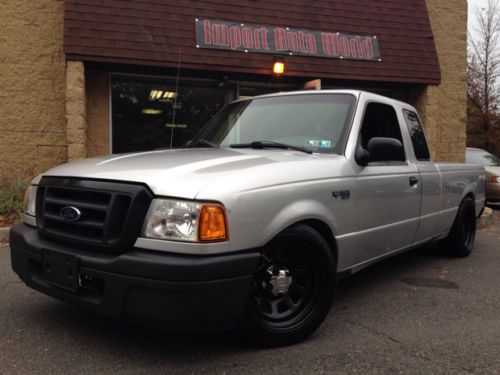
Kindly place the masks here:
<instances>
[{"instance_id":1,"label":"silver hood of the Ford truck, above the black grille","mask_svg":"<svg viewBox=\"0 0 500 375\"><path fill-rule=\"evenodd\" d=\"M162 150L80 160L55 167L43 176L139 182L156 195L193 199L204 186L231 173L318 157L325 155L225 148Z\"/></svg>"}]
</instances>

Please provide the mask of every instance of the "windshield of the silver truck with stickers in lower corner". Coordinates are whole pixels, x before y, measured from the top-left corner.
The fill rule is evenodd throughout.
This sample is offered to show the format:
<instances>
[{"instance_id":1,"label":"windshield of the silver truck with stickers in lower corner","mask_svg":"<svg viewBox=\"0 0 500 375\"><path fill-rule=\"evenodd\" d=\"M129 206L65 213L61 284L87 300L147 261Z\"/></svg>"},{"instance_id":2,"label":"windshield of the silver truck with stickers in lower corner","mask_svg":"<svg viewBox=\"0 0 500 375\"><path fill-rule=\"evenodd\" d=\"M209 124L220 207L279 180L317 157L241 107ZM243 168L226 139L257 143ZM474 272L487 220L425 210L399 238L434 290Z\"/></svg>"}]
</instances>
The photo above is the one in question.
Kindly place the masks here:
<instances>
[{"instance_id":1,"label":"windshield of the silver truck with stickers in lower corner","mask_svg":"<svg viewBox=\"0 0 500 375\"><path fill-rule=\"evenodd\" d=\"M283 95L243 100L220 111L191 142L267 148L272 143L342 153L355 97L350 94Z\"/></svg>"}]
</instances>

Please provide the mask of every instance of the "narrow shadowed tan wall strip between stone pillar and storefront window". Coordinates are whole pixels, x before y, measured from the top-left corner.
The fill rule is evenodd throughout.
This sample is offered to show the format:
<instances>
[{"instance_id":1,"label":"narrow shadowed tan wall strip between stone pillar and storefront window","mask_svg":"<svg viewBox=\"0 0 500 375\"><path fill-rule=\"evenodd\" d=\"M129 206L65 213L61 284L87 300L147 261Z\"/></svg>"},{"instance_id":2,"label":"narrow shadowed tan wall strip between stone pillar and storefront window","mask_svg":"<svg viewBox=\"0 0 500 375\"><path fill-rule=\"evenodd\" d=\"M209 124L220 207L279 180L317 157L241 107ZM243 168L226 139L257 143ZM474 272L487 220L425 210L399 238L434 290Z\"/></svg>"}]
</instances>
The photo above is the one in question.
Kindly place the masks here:
<instances>
[{"instance_id":1,"label":"narrow shadowed tan wall strip between stone pillar and storefront window","mask_svg":"<svg viewBox=\"0 0 500 375\"><path fill-rule=\"evenodd\" d=\"M86 71L87 156L110 153L109 149L109 73Z\"/></svg>"}]
</instances>

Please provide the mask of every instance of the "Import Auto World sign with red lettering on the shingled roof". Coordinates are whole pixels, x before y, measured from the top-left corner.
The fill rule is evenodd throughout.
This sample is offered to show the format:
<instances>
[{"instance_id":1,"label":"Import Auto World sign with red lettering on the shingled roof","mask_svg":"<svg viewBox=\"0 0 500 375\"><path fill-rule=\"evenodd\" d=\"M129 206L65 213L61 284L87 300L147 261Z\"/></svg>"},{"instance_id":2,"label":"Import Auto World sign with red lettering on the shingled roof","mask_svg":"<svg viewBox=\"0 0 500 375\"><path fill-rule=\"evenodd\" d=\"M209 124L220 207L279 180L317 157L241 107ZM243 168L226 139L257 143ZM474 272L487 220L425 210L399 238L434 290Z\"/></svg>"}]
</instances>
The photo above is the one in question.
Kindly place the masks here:
<instances>
[{"instance_id":1,"label":"Import Auto World sign with red lettering on the shingled roof","mask_svg":"<svg viewBox=\"0 0 500 375\"><path fill-rule=\"evenodd\" d=\"M196 47L240 52L380 61L374 35L196 19Z\"/></svg>"}]
</instances>

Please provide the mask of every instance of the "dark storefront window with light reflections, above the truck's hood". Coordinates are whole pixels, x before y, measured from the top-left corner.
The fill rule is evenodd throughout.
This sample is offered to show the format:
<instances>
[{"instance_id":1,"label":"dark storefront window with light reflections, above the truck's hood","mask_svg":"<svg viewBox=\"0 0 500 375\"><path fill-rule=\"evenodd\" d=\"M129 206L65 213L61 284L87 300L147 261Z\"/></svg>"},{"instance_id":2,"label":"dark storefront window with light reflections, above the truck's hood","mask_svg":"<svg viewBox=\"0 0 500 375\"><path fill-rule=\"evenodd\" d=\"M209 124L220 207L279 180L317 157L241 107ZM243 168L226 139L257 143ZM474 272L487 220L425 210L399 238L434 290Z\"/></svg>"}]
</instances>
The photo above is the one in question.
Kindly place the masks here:
<instances>
[{"instance_id":1,"label":"dark storefront window with light reflections, above the truck's hood","mask_svg":"<svg viewBox=\"0 0 500 375\"><path fill-rule=\"evenodd\" d=\"M112 79L112 152L183 147L235 90L217 82Z\"/></svg>"}]
</instances>

